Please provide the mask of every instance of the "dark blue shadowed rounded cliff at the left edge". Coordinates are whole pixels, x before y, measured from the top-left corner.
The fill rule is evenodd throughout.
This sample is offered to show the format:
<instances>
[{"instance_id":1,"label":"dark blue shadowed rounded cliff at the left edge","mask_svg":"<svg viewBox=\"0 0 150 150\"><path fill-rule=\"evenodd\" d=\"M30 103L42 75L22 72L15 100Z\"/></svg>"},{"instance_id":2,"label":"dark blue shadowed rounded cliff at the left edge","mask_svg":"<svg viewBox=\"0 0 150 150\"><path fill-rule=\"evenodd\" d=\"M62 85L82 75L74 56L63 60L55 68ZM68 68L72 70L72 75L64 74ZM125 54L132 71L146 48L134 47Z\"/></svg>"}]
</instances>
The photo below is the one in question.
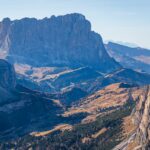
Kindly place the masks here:
<instances>
[{"instance_id":1,"label":"dark blue shadowed rounded cliff at the left edge","mask_svg":"<svg viewBox=\"0 0 150 150\"><path fill-rule=\"evenodd\" d=\"M0 87L13 89L16 86L15 71L11 64L0 59Z\"/></svg>"}]
</instances>

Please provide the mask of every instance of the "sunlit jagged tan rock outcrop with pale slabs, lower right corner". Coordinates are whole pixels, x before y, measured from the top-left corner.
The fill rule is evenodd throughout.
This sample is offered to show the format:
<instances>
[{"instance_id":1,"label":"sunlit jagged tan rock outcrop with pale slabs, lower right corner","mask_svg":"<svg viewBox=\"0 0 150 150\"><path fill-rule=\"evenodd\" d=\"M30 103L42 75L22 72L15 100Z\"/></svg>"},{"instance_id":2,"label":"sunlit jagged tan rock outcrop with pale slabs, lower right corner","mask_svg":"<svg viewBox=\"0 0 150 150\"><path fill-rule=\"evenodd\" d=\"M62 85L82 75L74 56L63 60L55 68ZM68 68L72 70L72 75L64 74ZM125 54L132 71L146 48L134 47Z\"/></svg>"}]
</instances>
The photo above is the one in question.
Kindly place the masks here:
<instances>
[{"instance_id":1,"label":"sunlit jagged tan rock outcrop with pale slabs, lower right corner","mask_svg":"<svg viewBox=\"0 0 150 150\"><path fill-rule=\"evenodd\" d=\"M144 87L131 114L134 129L114 150L150 149L150 86Z\"/></svg>"}]
</instances>

